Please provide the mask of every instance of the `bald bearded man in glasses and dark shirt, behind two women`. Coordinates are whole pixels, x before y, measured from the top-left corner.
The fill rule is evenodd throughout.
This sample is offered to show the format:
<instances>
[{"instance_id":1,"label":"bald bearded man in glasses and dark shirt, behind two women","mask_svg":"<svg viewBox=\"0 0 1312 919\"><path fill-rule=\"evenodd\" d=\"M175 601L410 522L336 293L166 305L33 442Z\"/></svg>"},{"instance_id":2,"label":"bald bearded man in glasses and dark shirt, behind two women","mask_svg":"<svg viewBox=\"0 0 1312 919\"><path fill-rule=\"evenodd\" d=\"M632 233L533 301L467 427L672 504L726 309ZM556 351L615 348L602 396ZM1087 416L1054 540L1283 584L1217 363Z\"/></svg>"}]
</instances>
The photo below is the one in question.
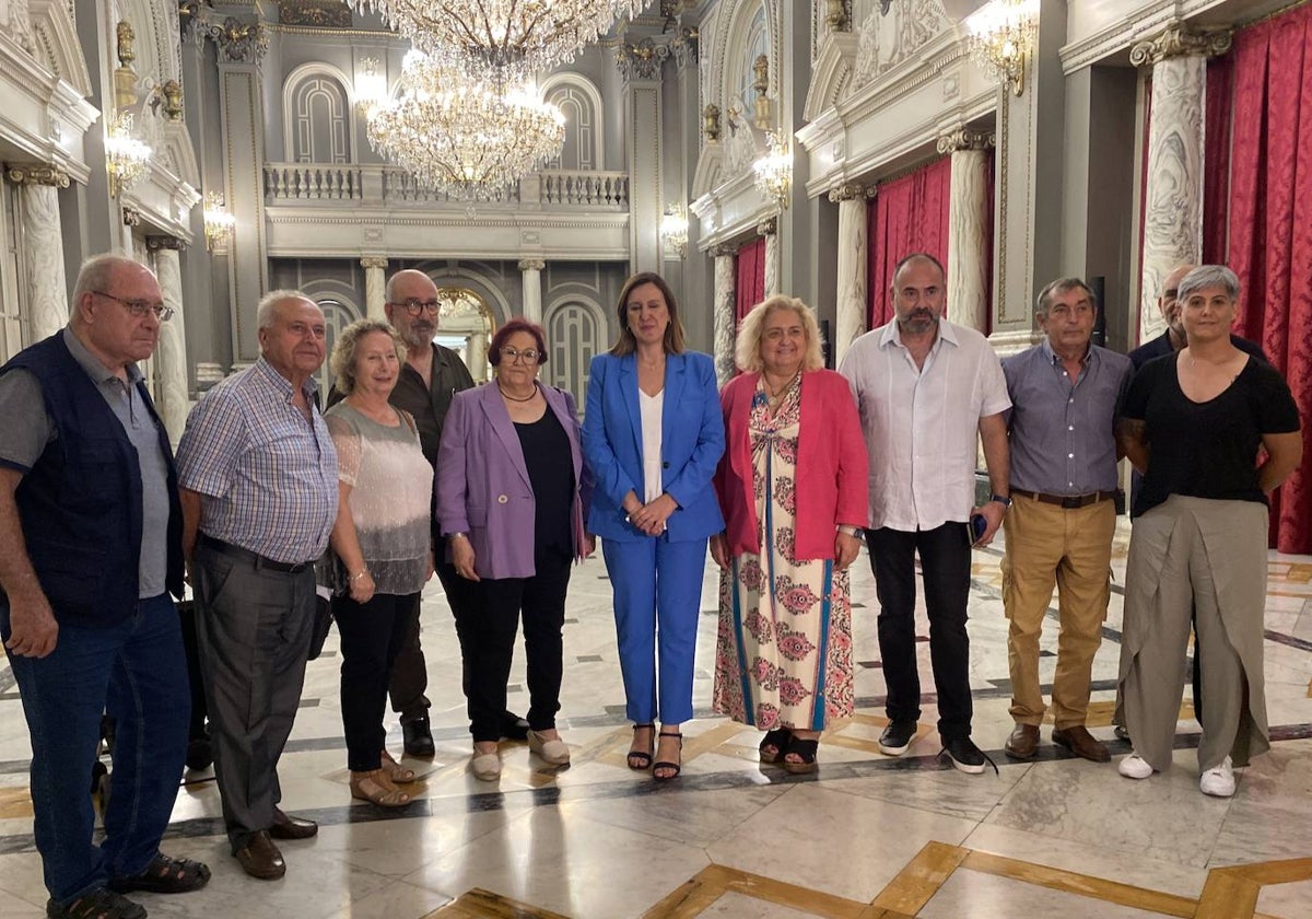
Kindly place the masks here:
<instances>
[{"instance_id":1,"label":"bald bearded man in glasses and dark shirt, behind two women","mask_svg":"<svg viewBox=\"0 0 1312 919\"><path fill-rule=\"evenodd\" d=\"M415 416L419 427L420 445L424 456L437 467L437 448L442 440L442 424L451 407L451 398L461 390L474 386L468 369L450 348L433 341L437 333L441 301L437 285L424 272L405 269L396 272L387 281L387 320L405 341L405 364L396 381L390 402ZM479 604L474 596L478 584L455 574L455 567L446 561L446 538L441 534L437 519L433 520L433 558L437 563L437 576L446 591L446 600L455 616L455 634L461 642L461 658L464 664L463 685L468 688L468 663L464 645L472 626L470 617L476 616ZM411 756L432 756L433 734L429 726L428 709L430 702L424 692L428 689L428 670L424 663L424 650L420 647L419 618L407 635L405 645L392 666L391 685L392 710L400 716L401 731L405 735L405 752ZM468 695L466 692L466 695ZM502 717L502 737L522 740L527 737L529 722L517 714L506 712Z\"/></svg>"}]
</instances>

